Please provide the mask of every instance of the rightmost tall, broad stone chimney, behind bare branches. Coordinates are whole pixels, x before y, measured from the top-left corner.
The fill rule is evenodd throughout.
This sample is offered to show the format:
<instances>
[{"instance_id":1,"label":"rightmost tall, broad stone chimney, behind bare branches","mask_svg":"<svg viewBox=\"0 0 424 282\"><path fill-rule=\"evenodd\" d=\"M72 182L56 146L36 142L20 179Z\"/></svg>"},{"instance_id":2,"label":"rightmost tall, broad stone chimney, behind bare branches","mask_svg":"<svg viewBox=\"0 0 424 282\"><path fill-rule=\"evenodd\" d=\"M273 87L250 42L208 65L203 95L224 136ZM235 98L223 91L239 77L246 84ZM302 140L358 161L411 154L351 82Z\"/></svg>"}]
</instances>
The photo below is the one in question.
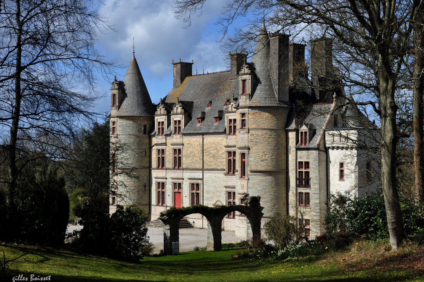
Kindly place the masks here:
<instances>
[{"instance_id":1,"label":"rightmost tall, broad stone chimney, behind bare branches","mask_svg":"<svg viewBox=\"0 0 424 282\"><path fill-rule=\"evenodd\" d=\"M311 42L311 78L318 102L333 100L332 39L319 38Z\"/></svg>"}]
</instances>

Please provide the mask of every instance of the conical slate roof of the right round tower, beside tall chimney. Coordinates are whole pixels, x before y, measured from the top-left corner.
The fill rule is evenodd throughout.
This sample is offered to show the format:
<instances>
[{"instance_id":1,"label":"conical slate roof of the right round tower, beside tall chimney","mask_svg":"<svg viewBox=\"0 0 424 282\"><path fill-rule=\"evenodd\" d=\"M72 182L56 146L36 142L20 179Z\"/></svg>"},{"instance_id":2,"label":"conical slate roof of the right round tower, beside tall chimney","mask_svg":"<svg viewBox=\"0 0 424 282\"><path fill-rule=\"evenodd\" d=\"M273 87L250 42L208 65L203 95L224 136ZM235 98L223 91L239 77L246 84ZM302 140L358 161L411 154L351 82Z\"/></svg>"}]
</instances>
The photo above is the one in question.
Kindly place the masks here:
<instances>
[{"instance_id":1,"label":"conical slate roof of the right round tower, beside tall chimney","mask_svg":"<svg viewBox=\"0 0 424 282\"><path fill-rule=\"evenodd\" d=\"M256 74L255 83L253 86L253 96L249 102L249 106L282 106L290 107L289 103L278 102L271 72L269 67L269 38L265 25L259 33L258 42L255 46L254 54L250 61Z\"/></svg>"}]
</instances>

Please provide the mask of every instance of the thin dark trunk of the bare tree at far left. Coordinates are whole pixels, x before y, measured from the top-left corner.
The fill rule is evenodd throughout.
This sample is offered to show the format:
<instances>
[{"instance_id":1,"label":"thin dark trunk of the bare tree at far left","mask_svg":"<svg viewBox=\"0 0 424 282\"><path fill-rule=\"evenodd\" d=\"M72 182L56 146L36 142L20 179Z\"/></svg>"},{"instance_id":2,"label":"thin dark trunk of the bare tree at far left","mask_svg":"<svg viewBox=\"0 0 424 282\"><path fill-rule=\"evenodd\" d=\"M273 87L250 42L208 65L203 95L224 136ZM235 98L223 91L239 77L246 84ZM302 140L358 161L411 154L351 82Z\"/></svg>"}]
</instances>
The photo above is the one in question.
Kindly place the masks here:
<instances>
[{"instance_id":1,"label":"thin dark trunk of the bare tree at far left","mask_svg":"<svg viewBox=\"0 0 424 282\"><path fill-rule=\"evenodd\" d=\"M8 146L8 165L9 165L9 187L8 187L8 200L9 200L9 223L11 224L10 230L15 230L15 194L16 194L16 177L17 177L17 165L16 165L16 143L18 136L20 109L21 109L21 56L22 56L22 24L20 20L20 0L16 1L16 76L15 76L15 105L12 113L12 124L10 128L10 141ZM13 236L13 235L12 235Z\"/></svg>"}]
</instances>

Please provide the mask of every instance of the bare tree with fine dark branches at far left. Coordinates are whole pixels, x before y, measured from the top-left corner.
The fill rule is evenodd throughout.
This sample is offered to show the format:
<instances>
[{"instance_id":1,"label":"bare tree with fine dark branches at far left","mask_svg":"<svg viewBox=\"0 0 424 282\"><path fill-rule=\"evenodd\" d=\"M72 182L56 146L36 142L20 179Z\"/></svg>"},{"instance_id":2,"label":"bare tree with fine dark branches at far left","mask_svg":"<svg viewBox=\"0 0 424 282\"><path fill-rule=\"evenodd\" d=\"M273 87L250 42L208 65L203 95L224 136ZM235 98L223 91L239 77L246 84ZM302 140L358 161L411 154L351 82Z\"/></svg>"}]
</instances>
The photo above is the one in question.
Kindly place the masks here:
<instances>
[{"instance_id":1,"label":"bare tree with fine dark branches at far left","mask_svg":"<svg viewBox=\"0 0 424 282\"><path fill-rule=\"evenodd\" d=\"M17 178L29 161L57 160L79 121L93 117L93 68L108 71L95 49L109 28L92 0L5 0L0 11L0 121L7 152L8 220L13 231ZM51 145L52 155L25 152L21 141ZM35 154L33 154L35 152Z\"/></svg>"}]
</instances>

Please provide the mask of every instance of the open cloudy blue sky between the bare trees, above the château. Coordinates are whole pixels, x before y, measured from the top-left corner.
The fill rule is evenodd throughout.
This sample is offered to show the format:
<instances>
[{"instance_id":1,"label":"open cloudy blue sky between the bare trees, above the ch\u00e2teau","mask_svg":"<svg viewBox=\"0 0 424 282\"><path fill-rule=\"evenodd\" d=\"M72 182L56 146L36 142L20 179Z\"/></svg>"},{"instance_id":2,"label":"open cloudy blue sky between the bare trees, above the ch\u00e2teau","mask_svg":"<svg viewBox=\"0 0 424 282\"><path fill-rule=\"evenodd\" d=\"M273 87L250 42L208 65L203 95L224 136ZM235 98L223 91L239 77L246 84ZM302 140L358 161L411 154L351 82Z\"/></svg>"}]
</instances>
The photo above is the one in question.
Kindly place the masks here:
<instances>
[{"instance_id":1,"label":"open cloudy blue sky between the bare trees, above the ch\u00e2teau","mask_svg":"<svg viewBox=\"0 0 424 282\"><path fill-rule=\"evenodd\" d=\"M171 0L106 0L100 13L109 17L116 31L100 35L100 53L118 64L128 65L132 57L133 37L135 57L150 93L152 102L164 97L173 86L172 60L194 61L207 71L224 71L219 43L219 26L214 25L220 17L225 0L208 0L201 17L193 17L192 25L184 29L181 20L174 17ZM117 79L122 80L125 69L118 70ZM99 78L97 90L105 95L98 101L98 111L110 110L110 82Z\"/></svg>"}]
</instances>

